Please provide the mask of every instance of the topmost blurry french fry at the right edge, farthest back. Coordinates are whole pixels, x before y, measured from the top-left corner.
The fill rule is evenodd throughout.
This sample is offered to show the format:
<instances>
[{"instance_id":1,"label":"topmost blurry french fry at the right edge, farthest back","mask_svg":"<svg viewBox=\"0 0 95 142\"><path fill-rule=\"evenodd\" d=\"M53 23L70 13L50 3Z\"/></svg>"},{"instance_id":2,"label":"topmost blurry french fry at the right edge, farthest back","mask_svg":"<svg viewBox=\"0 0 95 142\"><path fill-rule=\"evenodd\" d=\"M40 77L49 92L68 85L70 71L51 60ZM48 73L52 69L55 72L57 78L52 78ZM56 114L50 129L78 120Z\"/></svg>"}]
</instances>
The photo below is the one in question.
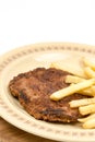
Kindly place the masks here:
<instances>
[{"instance_id":1,"label":"topmost blurry french fry at the right edge, farthest back","mask_svg":"<svg viewBox=\"0 0 95 142\"><path fill-rule=\"evenodd\" d=\"M86 67L90 67L95 70L95 59L91 60L90 58L83 58L83 62Z\"/></svg>"}]
</instances>

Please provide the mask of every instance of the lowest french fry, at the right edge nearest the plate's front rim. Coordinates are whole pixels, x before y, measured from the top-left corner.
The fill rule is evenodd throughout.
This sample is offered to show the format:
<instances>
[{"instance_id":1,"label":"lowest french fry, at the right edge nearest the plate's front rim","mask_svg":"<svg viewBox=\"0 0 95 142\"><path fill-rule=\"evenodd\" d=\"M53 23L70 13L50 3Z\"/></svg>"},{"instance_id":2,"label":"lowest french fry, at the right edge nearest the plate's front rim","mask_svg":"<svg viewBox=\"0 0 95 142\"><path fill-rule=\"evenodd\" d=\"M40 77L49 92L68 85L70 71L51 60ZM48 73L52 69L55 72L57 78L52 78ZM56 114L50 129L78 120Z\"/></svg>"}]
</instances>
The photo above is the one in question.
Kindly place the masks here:
<instances>
[{"instance_id":1,"label":"lowest french fry, at the right edge nearest the plate's front rim","mask_svg":"<svg viewBox=\"0 0 95 142\"><path fill-rule=\"evenodd\" d=\"M92 118L83 123L84 129L93 129L95 128L95 118Z\"/></svg>"}]
</instances>

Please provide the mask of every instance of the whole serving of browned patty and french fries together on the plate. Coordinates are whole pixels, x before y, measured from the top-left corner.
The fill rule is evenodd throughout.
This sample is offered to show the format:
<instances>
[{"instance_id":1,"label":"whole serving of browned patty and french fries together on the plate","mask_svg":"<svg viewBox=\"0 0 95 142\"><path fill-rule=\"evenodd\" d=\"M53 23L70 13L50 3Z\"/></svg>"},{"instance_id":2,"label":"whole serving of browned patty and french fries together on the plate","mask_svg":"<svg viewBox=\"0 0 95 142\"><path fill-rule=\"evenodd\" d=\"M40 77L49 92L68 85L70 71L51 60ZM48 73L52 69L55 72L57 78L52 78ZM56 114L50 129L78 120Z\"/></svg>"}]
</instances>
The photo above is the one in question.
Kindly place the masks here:
<instances>
[{"instance_id":1,"label":"whole serving of browned patty and french fries together on the plate","mask_svg":"<svg viewBox=\"0 0 95 142\"><path fill-rule=\"evenodd\" d=\"M10 81L10 92L36 119L95 128L95 63L80 60L73 60L74 68L69 60L20 73Z\"/></svg>"}]
</instances>

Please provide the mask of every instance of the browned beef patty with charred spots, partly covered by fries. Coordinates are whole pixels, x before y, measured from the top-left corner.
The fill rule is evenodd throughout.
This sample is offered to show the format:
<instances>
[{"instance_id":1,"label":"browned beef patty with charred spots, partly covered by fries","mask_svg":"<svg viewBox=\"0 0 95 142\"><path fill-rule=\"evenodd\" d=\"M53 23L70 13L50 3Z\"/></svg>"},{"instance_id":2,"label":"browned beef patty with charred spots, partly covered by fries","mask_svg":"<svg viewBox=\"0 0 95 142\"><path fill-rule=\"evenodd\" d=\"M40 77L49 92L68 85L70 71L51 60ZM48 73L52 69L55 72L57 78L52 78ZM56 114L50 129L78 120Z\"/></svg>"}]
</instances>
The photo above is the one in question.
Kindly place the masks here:
<instances>
[{"instance_id":1,"label":"browned beef patty with charred spots, partly covered by fries","mask_svg":"<svg viewBox=\"0 0 95 142\"><path fill-rule=\"evenodd\" d=\"M73 94L58 102L49 97L54 92L69 85L64 82L68 74L70 73L55 68L37 68L14 76L9 88L25 110L36 119L75 122L82 116L78 108L70 108L69 102L85 96Z\"/></svg>"}]
</instances>

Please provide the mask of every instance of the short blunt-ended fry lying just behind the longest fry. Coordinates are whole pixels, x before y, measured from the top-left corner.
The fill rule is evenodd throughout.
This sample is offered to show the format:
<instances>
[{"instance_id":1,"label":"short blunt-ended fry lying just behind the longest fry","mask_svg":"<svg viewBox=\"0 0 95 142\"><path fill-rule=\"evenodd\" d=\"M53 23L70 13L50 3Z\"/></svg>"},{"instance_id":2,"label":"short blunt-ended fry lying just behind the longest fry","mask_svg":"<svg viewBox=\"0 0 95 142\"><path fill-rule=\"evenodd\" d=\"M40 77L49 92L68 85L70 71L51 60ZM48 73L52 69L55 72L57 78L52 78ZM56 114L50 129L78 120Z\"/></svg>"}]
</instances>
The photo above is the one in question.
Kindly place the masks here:
<instances>
[{"instance_id":1,"label":"short blunt-ended fry lying just behind the longest fry","mask_svg":"<svg viewBox=\"0 0 95 142\"><path fill-rule=\"evenodd\" d=\"M79 83L85 81L85 79L76 76L76 75L67 75L66 83Z\"/></svg>"}]
</instances>

